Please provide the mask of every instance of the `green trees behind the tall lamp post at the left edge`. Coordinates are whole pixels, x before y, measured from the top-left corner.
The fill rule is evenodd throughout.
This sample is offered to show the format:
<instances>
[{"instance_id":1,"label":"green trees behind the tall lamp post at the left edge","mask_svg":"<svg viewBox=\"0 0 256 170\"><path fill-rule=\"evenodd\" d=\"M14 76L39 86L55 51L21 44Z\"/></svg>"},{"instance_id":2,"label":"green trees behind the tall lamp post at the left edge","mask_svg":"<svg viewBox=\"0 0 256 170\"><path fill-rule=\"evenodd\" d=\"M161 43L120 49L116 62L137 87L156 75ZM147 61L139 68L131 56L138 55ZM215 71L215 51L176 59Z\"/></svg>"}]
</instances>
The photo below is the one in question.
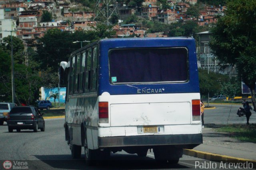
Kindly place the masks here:
<instances>
[{"instance_id":1,"label":"green trees behind the tall lamp post at the left edge","mask_svg":"<svg viewBox=\"0 0 256 170\"><path fill-rule=\"evenodd\" d=\"M25 53L23 42L12 37L13 57L14 57L14 85L17 104L33 104L39 97L39 88L41 80L32 63L25 65ZM31 51L32 52L32 51ZM30 56L30 53L29 53ZM10 36L3 39L0 45L0 100L12 101L11 85L11 38ZM30 58L32 62L32 58Z\"/></svg>"}]
</instances>

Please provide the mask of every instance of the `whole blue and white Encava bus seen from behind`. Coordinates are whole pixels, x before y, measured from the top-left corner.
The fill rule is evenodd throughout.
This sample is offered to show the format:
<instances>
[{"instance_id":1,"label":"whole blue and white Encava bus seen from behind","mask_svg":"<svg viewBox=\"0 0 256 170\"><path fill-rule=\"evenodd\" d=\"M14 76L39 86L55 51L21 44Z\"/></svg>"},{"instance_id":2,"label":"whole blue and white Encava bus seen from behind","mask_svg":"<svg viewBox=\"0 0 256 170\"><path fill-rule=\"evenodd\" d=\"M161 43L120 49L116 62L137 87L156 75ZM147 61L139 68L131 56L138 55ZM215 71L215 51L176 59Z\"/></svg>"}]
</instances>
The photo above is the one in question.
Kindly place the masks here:
<instances>
[{"instance_id":1,"label":"whole blue and white Encava bus seen from behind","mask_svg":"<svg viewBox=\"0 0 256 170\"><path fill-rule=\"evenodd\" d=\"M87 163L124 150L178 162L202 143L195 41L102 39L61 63L68 73L65 134Z\"/></svg>"}]
</instances>

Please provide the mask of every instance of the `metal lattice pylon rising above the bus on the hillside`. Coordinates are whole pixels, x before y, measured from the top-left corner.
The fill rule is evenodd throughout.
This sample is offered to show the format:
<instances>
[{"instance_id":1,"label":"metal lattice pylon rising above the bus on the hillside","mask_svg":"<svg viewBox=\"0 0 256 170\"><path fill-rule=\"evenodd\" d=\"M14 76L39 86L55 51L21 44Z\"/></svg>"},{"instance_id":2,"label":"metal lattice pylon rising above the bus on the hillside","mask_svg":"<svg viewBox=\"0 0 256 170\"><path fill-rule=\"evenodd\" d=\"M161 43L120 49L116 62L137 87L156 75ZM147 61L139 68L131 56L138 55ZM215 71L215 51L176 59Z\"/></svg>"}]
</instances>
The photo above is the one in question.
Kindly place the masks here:
<instances>
[{"instance_id":1,"label":"metal lattice pylon rising above the bus on the hillside","mask_svg":"<svg viewBox=\"0 0 256 170\"><path fill-rule=\"evenodd\" d=\"M103 21L107 25L111 25L110 19L113 16L119 18L118 3L116 0L97 0L94 21Z\"/></svg>"}]
</instances>

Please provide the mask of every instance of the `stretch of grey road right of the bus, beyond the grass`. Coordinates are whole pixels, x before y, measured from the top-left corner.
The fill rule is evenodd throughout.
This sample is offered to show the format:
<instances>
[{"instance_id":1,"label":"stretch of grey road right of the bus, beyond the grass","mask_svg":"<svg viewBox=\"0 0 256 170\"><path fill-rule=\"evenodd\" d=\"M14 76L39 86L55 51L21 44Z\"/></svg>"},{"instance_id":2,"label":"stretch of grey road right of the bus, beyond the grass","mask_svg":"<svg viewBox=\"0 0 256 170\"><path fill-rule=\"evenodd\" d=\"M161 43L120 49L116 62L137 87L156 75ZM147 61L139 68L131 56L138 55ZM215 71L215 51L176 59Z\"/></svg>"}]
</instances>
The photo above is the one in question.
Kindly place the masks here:
<instances>
[{"instance_id":1,"label":"stretch of grey road right of the bus, beyond the grass","mask_svg":"<svg viewBox=\"0 0 256 170\"><path fill-rule=\"evenodd\" d=\"M207 106L207 103L204 103ZM246 117L238 117L237 110L241 105L222 105L222 104L210 104L209 106L214 106L216 109L205 109L204 110L204 124L246 124ZM253 108L253 107L252 107ZM250 123L256 123L256 112L252 111L250 117Z\"/></svg>"}]
</instances>

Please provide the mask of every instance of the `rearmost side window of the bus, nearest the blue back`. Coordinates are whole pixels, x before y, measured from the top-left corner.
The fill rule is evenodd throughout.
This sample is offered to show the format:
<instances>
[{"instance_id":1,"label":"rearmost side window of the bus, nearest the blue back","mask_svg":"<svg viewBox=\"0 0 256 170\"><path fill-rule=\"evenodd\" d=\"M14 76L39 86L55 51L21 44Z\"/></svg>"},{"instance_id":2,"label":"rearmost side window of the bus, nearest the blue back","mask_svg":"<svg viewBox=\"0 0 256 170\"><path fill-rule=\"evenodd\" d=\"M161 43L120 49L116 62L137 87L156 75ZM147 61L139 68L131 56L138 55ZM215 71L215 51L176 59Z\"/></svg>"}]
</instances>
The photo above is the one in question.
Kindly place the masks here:
<instances>
[{"instance_id":1,"label":"rearmost side window of the bus, nearest the blue back","mask_svg":"<svg viewBox=\"0 0 256 170\"><path fill-rule=\"evenodd\" d=\"M97 88L97 75L98 75L98 47L93 48L92 56L92 84L91 90L96 90Z\"/></svg>"}]
</instances>

